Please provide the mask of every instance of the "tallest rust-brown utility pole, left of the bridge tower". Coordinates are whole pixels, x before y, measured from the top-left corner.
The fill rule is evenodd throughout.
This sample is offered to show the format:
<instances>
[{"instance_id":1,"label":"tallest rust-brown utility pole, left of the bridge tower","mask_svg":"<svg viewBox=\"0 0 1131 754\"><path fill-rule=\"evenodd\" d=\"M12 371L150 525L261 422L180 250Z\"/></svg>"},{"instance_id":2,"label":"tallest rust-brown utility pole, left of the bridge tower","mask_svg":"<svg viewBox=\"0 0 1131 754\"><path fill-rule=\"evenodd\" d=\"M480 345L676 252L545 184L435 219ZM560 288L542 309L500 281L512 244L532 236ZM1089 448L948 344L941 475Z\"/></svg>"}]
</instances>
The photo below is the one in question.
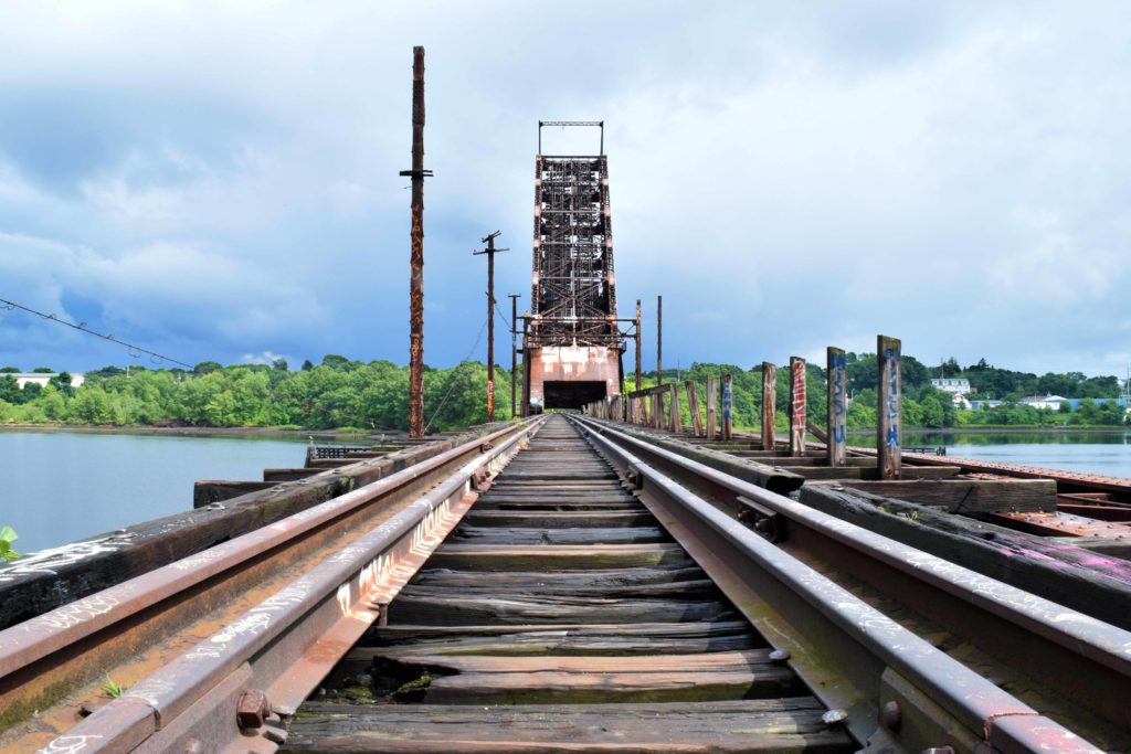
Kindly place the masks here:
<instances>
[{"instance_id":1,"label":"tallest rust-brown utility pole, left of the bridge tower","mask_svg":"<svg viewBox=\"0 0 1131 754\"><path fill-rule=\"evenodd\" d=\"M412 254L408 288L408 436L424 436L424 47L413 47Z\"/></svg>"}]
</instances>

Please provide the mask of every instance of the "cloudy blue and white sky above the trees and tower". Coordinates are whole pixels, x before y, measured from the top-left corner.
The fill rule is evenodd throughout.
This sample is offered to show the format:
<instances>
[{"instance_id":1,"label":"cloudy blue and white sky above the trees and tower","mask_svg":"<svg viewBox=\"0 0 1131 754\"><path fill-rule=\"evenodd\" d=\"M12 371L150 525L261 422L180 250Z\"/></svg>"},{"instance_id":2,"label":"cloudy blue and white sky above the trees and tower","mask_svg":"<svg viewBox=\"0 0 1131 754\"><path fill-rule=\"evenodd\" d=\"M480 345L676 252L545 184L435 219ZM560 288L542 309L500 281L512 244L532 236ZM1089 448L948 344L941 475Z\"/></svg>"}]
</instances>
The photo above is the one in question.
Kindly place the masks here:
<instances>
[{"instance_id":1,"label":"cloudy blue and white sky above the trees and tower","mask_svg":"<svg viewBox=\"0 0 1131 754\"><path fill-rule=\"evenodd\" d=\"M879 333L927 364L1131 362L1125 2L0 0L0 298L195 364L425 361L530 296L538 120L604 120L618 298L654 365ZM547 129L545 151L596 149ZM497 353L509 363L509 336ZM0 307L0 362L153 359ZM632 363L631 350L625 366ZM163 365L167 366L169 362Z\"/></svg>"}]
</instances>

